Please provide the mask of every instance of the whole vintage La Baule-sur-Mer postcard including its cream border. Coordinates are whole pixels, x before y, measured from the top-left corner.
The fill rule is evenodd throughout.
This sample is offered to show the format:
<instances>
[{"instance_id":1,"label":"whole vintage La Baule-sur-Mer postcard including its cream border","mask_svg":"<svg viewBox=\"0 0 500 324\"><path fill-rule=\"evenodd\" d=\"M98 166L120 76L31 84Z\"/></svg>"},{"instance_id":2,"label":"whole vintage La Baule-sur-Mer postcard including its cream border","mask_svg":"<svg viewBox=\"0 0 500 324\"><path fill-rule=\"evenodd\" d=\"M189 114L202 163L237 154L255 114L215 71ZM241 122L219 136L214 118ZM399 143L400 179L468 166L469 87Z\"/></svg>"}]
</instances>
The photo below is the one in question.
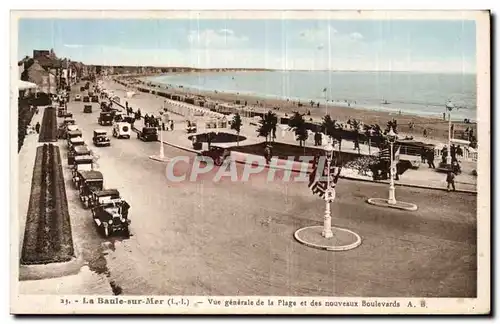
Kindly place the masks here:
<instances>
[{"instance_id":1,"label":"whole vintage La Baule-sur-Mer postcard including its cream border","mask_svg":"<svg viewBox=\"0 0 500 324\"><path fill-rule=\"evenodd\" d=\"M13 314L490 312L488 11L11 16Z\"/></svg>"}]
</instances>

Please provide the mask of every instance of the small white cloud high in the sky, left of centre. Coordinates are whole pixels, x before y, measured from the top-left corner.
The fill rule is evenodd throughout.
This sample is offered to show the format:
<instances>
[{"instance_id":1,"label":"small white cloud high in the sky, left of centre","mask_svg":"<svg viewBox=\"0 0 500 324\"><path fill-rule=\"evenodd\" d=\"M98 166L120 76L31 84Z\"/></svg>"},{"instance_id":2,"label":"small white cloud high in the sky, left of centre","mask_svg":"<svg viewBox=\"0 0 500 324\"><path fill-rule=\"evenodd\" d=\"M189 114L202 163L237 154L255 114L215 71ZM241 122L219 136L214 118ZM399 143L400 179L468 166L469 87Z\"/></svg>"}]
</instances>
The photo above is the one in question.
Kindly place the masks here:
<instances>
[{"instance_id":1,"label":"small white cloud high in the sky, left of centre","mask_svg":"<svg viewBox=\"0 0 500 324\"><path fill-rule=\"evenodd\" d=\"M227 46L241 46L248 42L248 37L239 36L230 29L192 30L188 34L188 42L194 47L220 48Z\"/></svg>"}]
</instances>

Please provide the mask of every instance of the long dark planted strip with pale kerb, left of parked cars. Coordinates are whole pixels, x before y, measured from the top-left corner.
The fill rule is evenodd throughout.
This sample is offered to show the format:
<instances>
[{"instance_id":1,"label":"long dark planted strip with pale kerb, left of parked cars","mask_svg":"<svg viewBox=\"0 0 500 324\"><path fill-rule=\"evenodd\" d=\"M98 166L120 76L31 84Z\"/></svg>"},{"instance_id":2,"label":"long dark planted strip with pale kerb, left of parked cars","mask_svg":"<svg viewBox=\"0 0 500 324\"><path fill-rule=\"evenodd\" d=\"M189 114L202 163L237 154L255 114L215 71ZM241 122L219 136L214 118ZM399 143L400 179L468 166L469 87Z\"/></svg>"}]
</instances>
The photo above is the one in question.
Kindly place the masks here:
<instances>
[{"instance_id":1,"label":"long dark planted strip with pale kerb, left of parked cars","mask_svg":"<svg viewBox=\"0 0 500 324\"><path fill-rule=\"evenodd\" d=\"M20 260L20 278L74 272L80 262L71 233L59 147L37 148Z\"/></svg>"}]
</instances>

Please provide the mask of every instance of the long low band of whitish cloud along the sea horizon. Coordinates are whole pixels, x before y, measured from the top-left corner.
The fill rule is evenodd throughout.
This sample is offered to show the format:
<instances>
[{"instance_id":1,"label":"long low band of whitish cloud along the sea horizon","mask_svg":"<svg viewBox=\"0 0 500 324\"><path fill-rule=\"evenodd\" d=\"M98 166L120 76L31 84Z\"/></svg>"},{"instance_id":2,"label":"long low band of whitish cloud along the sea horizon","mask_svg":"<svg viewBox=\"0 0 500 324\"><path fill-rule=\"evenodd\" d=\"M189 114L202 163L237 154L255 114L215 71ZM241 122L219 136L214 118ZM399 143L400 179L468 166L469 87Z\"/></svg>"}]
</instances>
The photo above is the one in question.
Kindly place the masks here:
<instances>
[{"instance_id":1,"label":"long low band of whitish cloud along the sea horizon","mask_svg":"<svg viewBox=\"0 0 500 324\"><path fill-rule=\"evenodd\" d=\"M379 55L350 55L333 57L313 49L294 49L283 56L280 51L235 48L127 49L118 47L89 48L75 57L87 64L190 66L198 68L268 68L296 70L348 71L418 71L474 72L474 62L461 58L442 60L381 57ZM83 57L85 56L85 57Z\"/></svg>"}]
</instances>

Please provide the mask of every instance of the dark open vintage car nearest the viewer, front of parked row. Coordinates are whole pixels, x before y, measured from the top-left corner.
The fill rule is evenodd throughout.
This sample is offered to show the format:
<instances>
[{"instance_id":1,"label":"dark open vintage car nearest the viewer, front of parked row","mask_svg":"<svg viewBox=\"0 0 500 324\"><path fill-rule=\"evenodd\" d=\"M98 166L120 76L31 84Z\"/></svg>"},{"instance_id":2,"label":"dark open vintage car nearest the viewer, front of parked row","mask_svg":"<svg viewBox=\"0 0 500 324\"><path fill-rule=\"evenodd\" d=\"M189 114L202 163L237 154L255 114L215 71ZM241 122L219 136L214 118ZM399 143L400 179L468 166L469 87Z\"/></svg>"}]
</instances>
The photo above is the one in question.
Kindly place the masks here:
<instances>
[{"instance_id":1,"label":"dark open vintage car nearest the viewer, front of parked row","mask_svg":"<svg viewBox=\"0 0 500 324\"><path fill-rule=\"evenodd\" d=\"M98 229L105 237L113 233L129 235L130 220L128 211L130 205L120 197L117 189L106 189L92 193L90 203L92 217Z\"/></svg>"}]
</instances>

